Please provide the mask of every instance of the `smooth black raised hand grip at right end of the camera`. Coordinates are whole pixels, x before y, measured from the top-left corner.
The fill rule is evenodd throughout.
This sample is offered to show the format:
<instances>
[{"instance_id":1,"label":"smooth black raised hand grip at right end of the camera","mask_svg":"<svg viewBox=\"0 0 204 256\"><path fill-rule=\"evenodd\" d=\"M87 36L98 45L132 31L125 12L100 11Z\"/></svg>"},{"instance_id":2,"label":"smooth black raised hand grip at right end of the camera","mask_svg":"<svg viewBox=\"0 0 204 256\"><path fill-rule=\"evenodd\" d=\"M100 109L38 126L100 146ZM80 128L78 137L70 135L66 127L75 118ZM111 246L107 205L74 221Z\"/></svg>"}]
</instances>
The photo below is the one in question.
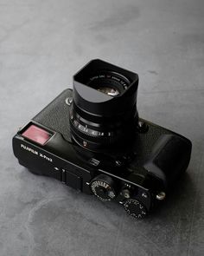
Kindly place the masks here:
<instances>
[{"instance_id":1,"label":"smooth black raised hand grip at right end of the camera","mask_svg":"<svg viewBox=\"0 0 204 256\"><path fill-rule=\"evenodd\" d=\"M187 169L191 148L191 141L182 136L161 135L143 166L168 189Z\"/></svg>"}]
</instances>

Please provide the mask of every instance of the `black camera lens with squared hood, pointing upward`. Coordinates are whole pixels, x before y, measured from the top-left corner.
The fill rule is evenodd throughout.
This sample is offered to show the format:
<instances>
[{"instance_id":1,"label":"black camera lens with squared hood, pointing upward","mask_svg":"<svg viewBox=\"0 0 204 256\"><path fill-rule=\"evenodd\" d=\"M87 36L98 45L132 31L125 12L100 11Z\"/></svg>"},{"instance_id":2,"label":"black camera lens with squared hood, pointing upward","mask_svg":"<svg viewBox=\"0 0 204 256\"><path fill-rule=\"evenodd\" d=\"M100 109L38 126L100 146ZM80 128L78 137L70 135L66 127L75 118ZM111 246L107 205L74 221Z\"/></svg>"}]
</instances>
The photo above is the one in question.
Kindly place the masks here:
<instances>
[{"instance_id":1,"label":"black camera lens with squared hood, pointing upward","mask_svg":"<svg viewBox=\"0 0 204 256\"><path fill-rule=\"evenodd\" d=\"M92 151L122 146L137 123L138 76L93 60L73 76L73 140Z\"/></svg>"}]
</instances>

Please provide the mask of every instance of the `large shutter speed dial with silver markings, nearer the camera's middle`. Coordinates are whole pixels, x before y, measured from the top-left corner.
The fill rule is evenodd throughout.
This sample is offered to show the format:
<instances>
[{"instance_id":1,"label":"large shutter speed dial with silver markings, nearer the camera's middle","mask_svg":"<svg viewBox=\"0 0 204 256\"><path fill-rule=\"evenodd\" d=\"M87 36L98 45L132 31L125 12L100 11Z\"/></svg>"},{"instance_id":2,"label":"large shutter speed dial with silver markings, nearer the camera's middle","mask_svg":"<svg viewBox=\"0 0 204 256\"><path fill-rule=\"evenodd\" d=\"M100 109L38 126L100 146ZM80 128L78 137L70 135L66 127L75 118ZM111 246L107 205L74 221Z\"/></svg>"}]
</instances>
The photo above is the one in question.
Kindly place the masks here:
<instances>
[{"instance_id":1,"label":"large shutter speed dial with silver markings, nearer the camera's middle","mask_svg":"<svg viewBox=\"0 0 204 256\"><path fill-rule=\"evenodd\" d=\"M100 174L95 177L90 187L92 189L92 193L95 194L99 200L113 200L116 197L116 185L111 177Z\"/></svg>"}]
</instances>

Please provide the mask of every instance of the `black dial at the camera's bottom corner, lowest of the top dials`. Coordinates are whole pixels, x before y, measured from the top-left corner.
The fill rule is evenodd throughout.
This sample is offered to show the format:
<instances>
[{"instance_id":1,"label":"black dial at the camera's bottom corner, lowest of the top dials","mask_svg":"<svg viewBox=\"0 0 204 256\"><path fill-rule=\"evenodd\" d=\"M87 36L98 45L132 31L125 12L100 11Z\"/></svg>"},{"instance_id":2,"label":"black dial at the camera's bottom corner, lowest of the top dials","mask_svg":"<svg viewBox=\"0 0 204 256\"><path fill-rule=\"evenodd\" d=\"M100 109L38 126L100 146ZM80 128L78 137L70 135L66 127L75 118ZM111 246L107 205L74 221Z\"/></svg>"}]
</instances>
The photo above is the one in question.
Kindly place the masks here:
<instances>
[{"instance_id":1,"label":"black dial at the camera's bottom corner, lowest of the top dials","mask_svg":"<svg viewBox=\"0 0 204 256\"><path fill-rule=\"evenodd\" d=\"M131 198L124 201L124 210L137 219L142 219L147 214L147 209L143 203Z\"/></svg>"}]
</instances>

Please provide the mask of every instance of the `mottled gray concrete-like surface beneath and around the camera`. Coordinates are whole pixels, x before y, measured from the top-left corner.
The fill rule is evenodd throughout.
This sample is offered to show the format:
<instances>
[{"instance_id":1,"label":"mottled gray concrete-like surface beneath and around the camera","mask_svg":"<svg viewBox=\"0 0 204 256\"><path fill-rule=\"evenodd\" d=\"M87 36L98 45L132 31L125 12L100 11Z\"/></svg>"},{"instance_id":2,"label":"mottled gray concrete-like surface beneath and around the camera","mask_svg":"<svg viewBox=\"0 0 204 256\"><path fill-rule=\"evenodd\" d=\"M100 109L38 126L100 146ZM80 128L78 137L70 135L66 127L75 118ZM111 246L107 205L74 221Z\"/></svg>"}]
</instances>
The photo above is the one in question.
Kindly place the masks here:
<instances>
[{"instance_id":1,"label":"mottled gray concrete-like surface beneath and around the camera","mask_svg":"<svg viewBox=\"0 0 204 256\"><path fill-rule=\"evenodd\" d=\"M141 117L193 141L181 186L146 220L12 154L16 129L96 57L137 71ZM203 81L203 0L0 0L0 256L204 255Z\"/></svg>"}]
</instances>

